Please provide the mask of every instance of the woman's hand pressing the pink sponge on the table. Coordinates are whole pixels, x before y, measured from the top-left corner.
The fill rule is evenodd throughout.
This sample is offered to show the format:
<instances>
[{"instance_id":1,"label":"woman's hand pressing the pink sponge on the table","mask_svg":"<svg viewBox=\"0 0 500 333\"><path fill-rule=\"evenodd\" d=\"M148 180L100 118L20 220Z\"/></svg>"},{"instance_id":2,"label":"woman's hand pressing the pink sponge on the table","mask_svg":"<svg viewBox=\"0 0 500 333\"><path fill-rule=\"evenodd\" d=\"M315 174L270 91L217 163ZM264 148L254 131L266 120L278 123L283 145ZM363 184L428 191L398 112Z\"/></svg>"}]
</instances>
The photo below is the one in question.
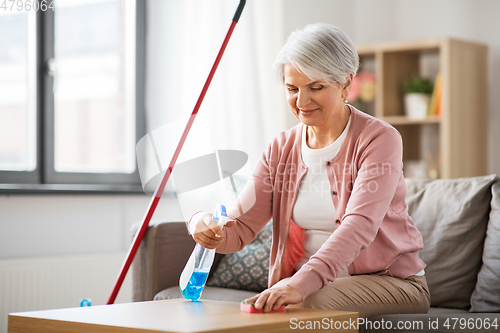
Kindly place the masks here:
<instances>
[{"instance_id":1,"label":"woman's hand pressing the pink sponge on the table","mask_svg":"<svg viewBox=\"0 0 500 333\"><path fill-rule=\"evenodd\" d=\"M278 310L282 305L300 302L302 302L302 295L292 286L269 288L245 300L245 303L255 303L255 308L263 309L264 312Z\"/></svg>"}]
</instances>

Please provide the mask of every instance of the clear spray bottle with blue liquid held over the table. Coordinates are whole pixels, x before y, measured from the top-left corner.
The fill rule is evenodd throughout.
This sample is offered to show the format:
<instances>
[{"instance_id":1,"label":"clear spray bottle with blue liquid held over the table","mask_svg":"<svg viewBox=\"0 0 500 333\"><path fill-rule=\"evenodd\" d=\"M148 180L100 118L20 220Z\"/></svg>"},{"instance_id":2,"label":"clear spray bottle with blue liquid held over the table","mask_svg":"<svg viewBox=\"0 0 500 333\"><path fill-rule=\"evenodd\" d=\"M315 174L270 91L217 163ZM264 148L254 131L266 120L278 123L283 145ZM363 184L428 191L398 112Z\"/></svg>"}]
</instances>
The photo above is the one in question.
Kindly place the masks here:
<instances>
[{"instance_id":1,"label":"clear spray bottle with blue liquid held over the table","mask_svg":"<svg viewBox=\"0 0 500 333\"><path fill-rule=\"evenodd\" d=\"M217 205L212 218L218 223L219 227L222 228L226 225L228 221L226 207L220 204ZM181 294L185 299L190 301L200 299L208 273L214 262L214 257L215 249L206 249L196 243L193 253L191 253L179 279Z\"/></svg>"}]
</instances>

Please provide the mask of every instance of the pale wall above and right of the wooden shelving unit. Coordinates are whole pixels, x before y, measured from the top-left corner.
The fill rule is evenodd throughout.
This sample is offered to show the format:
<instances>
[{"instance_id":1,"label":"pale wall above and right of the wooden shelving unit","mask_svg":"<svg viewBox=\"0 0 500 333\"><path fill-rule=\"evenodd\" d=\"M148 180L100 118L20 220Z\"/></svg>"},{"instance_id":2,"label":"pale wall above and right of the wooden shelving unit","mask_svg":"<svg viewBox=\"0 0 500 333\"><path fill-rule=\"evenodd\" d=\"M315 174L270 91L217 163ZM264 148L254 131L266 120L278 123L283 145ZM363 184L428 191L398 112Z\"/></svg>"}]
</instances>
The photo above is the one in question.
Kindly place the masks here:
<instances>
[{"instance_id":1,"label":"pale wall above and right of the wooden shelving unit","mask_svg":"<svg viewBox=\"0 0 500 333\"><path fill-rule=\"evenodd\" d=\"M286 0L285 36L308 23L328 22L355 44L455 37L489 47L489 173L500 175L500 1L495 0ZM289 126L296 123L288 118Z\"/></svg>"}]
</instances>

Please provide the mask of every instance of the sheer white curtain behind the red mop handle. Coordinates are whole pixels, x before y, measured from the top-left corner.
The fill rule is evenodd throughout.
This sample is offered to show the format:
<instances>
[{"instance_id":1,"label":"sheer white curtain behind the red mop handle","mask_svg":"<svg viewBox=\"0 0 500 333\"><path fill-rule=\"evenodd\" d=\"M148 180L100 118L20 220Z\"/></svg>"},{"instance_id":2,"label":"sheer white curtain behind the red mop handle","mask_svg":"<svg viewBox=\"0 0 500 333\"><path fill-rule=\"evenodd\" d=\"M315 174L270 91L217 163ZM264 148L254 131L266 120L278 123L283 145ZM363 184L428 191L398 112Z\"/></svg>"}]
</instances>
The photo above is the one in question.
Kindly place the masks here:
<instances>
[{"instance_id":1,"label":"sheer white curtain behind the red mop handle","mask_svg":"<svg viewBox=\"0 0 500 333\"><path fill-rule=\"evenodd\" d=\"M238 0L147 2L149 134L138 144L138 157L146 156L139 168L149 190L156 189L160 170L170 162L238 4ZM169 180L166 191L171 192L175 185L185 220L198 210L213 210L216 203L231 205L238 181L244 182L262 150L286 130L289 111L284 88L271 72L285 41L283 23L283 0L247 1L177 165L196 161L196 166L200 160L195 158L224 149L242 151L249 160L241 174L221 177L190 192L179 192L178 178ZM222 175L223 167L217 162ZM203 172L209 168L204 167ZM196 182L199 170L190 173L189 181Z\"/></svg>"}]
</instances>

